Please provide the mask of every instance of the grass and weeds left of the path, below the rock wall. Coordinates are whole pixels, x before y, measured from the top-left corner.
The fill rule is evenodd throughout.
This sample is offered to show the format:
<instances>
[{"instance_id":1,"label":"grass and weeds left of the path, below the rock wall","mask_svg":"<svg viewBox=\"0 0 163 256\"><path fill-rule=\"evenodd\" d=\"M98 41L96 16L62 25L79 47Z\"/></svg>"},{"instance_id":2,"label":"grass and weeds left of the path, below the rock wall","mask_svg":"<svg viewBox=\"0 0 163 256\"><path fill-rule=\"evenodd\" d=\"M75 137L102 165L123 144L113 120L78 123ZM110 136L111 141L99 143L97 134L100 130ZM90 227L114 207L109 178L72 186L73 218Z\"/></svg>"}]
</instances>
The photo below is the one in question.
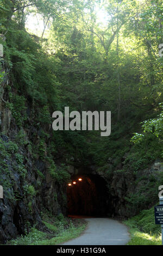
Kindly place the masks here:
<instances>
[{"instance_id":1,"label":"grass and weeds left of the path, below the rock wall","mask_svg":"<svg viewBox=\"0 0 163 256\"><path fill-rule=\"evenodd\" d=\"M43 223L49 231L42 232L32 227L26 235L10 240L8 245L59 245L79 236L86 227L84 220L65 218L64 216L45 217Z\"/></svg>"}]
</instances>

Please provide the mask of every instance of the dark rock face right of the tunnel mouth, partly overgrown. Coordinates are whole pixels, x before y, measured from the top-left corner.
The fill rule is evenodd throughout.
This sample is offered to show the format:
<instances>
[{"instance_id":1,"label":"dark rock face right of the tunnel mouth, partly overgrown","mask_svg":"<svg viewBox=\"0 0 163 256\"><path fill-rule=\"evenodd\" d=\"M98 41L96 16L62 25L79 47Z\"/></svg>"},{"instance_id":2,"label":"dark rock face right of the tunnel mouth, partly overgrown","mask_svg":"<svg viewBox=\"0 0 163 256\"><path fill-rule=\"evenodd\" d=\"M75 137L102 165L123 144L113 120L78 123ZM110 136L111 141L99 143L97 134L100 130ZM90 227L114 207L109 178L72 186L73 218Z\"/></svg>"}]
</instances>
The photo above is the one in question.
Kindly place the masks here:
<instances>
[{"instance_id":1,"label":"dark rock face right of the tunnel mouth, partly overgrown","mask_svg":"<svg viewBox=\"0 0 163 256\"><path fill-rule=\"evenodd\" d=\"M163 165L159 160L140 172L115 171L110 193L115 198L114 214L131 217L158 203L159 186L163 184Z\"/></svg>"}]
</instances>

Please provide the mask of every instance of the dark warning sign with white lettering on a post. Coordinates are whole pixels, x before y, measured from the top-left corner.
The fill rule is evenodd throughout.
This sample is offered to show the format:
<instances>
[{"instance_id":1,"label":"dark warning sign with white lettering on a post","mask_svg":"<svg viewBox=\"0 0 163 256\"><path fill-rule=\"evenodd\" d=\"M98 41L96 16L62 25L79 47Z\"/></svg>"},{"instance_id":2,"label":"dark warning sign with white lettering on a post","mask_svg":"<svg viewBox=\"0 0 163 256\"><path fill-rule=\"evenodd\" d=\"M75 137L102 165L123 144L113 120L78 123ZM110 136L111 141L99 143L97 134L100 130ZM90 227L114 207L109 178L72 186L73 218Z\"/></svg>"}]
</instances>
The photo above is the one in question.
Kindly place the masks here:
<instances>
[{"instance_id":1,"label":"dark warning sign with white lettering on a post","mask_svg":"<svg viewBox=\"0 0 163 256\"><path fill-rule=\"evenodd\" d=\"M159 197L160 205L154 206L155 224L161 224L162 245L163 245L163 197Z\"/></svg>"}]
</instances>

